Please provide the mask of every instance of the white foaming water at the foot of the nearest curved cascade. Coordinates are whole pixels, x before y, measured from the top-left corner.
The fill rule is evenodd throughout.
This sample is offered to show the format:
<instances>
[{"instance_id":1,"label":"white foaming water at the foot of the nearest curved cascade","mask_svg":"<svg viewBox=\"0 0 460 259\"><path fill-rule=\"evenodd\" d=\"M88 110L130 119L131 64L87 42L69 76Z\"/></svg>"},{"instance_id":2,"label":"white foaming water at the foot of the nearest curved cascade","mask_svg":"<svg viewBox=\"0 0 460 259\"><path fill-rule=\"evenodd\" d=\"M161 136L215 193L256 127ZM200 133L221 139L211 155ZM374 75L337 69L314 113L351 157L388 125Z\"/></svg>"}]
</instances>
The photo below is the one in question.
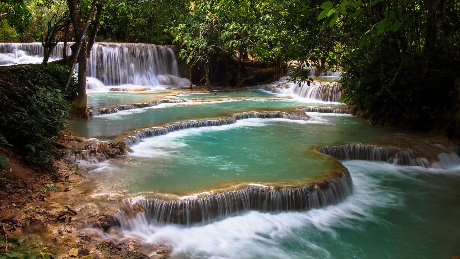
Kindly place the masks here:
<instances>
[{"instance_id":1,"label":"white foaming water at the foot of the nearest curved cascade","mask_svg":"<svg viewBox=\"0 0 460 259\"><path fill-rule=\"evenodd\" d=\"M366 163L366 162L356 162ZM368 163L380 167L379 163ZM397 195L382 186L363 170L350 170L354 181L354 194L343 203L308 212L284 212L279 214L251 211L207 225L184 227L178 225L153 225L144 213L122 222L121 231L126 238L140 242L166 244L173 250L173 258L327 258L329 252L303 236L299 231L322 233L337 238L334 227L357 228L351 220L374 221L374 208L387 208L403 203ZM313 250L288 251L282 248L282 240L301 238L301 242Z\"/></svg>"}]
</instances>

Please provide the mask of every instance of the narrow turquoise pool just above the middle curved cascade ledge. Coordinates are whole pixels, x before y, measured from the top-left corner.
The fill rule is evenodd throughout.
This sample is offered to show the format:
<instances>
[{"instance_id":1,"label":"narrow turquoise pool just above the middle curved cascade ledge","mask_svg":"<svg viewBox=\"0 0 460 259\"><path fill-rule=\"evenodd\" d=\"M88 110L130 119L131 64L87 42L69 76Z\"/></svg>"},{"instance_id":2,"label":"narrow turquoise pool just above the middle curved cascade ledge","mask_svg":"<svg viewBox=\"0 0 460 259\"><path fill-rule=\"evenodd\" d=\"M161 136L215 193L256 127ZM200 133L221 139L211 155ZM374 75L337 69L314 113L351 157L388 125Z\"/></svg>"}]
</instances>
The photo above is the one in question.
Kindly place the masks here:
<instances>
[{"instance_id":1,"label":"narrow turquoise pool just above the middle curved cascade ledge","mask_svg":"<svg viewBox=\"0 0 460 259\"><path fill-rule=\"evenodd\" d=\"M132 135L134 130L159 124L191 119L220 118L229 113L253 110L276 110L302 107L306 104L293 100L230 100L210 102L164 103L155 107L131 109L87 119L69 121L74 135L96 138L115 138ZM315 105L318 105L315 103Z\"/></svg>"}]
</instances>

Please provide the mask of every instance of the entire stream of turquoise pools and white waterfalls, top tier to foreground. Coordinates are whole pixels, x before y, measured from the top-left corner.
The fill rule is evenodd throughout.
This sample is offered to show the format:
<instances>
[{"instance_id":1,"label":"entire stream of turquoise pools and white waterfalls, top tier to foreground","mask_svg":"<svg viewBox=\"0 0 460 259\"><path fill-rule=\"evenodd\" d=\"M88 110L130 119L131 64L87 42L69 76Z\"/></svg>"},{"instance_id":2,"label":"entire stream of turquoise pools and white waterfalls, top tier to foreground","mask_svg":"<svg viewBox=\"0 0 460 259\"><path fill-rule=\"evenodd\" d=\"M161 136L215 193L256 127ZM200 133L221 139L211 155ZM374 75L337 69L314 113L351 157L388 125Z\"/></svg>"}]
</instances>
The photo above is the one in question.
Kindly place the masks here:
<instances>
[{"instance_id":1,"label":"entire stream of turquoise pools and white waterfalls, top tier to foreground","mask_svg":"<svg viewBox=\"0 0 460 259\"><path fill-rule=\"evenodd\" d=\"M39 63L40 48L0 44L0 63ZM51 59L62 52L59 44ZM152 244L177 259L460 255L458 150L420 141L430 158L374 146L425 135L352 116L339 103L339 73L300 87L285 77L249 91L179 94L166 89L189 84L172 49L121 43L96 44L88 68L93 118L70 120L69 130L125 139L132 152L91 160L87 185L145 210L121 211L121 236L102 238L134 238L148 255Z\"/></svg>"}]
</instances>

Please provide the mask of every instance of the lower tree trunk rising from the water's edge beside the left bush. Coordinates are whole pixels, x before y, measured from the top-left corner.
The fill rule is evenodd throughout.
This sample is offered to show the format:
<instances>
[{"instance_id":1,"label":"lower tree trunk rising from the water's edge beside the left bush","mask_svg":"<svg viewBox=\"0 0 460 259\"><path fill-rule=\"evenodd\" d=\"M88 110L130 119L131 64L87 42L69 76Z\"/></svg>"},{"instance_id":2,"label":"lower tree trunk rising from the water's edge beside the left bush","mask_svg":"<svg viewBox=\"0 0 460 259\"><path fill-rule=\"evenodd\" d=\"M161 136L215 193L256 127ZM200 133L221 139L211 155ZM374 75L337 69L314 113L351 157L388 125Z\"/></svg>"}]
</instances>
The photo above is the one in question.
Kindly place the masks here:
<instances>
[{"instance_id":1,"label":"lower tree trunk rising from the water's edge beside the left bush","mask_svg":"<svg viewBox=\"0 0 460 259\"><path fill-rule=\"evenodd\" d=\"M74 118L81 118L86 113L86 42L83 42L78 53L78 87L77 97L70 106L70 113Z\"/></svg>"}]
</instances>

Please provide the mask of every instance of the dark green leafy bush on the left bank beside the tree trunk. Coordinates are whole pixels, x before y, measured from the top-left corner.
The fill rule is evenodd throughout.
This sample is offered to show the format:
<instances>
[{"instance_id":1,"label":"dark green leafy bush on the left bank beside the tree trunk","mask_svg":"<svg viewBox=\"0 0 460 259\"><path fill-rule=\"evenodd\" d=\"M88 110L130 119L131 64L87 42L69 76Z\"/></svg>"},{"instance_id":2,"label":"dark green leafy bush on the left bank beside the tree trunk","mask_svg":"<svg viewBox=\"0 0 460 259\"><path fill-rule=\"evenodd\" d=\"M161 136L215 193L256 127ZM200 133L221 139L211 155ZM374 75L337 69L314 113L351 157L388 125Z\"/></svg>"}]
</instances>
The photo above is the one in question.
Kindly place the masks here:
<instances>
[{"instance_id":1,"label":"dark green leafy bush on the left bank beside the tree trunk","mask_svg":"<svg viewBox=\"0 0 460 259\"><path fill-rule=\"evenodd\" d=\"M64 129L76 91L72 79L63 86L69 69L59 65L17 65L0 70L0 134L34 164L48 165L53 145Z\"/></svg>"}]
</instances>

